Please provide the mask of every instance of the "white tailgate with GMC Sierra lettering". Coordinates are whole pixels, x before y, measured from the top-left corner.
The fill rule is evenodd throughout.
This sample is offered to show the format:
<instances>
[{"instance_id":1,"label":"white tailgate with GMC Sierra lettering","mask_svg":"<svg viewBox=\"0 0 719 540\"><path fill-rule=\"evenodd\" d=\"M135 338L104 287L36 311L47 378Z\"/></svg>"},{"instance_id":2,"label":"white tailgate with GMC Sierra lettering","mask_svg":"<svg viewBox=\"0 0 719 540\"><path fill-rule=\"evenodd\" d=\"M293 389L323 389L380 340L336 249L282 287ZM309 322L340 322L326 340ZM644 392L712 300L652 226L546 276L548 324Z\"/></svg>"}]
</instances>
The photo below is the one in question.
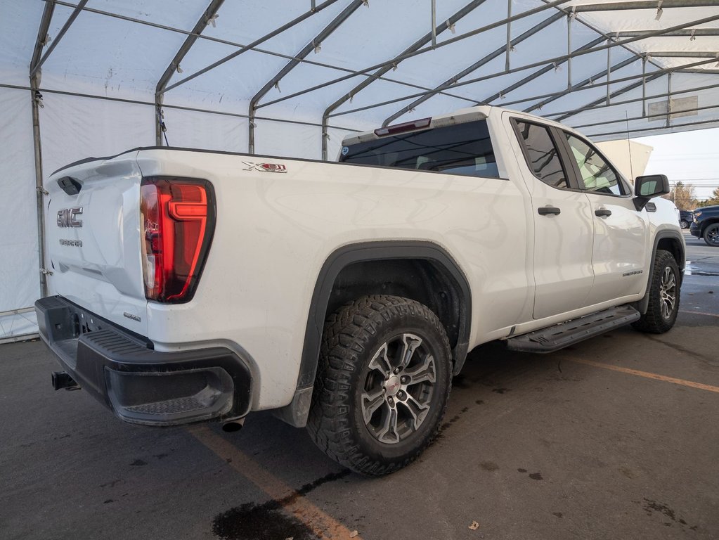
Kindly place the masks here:
<instances>
[{"instance_id":1,"label":"white tailgate with GMC Sierra lettering","mask_svg":"<svg viewBox=\"0 0 719 540\"><path fill-rule=\"evenodd\" d=\"M45 215L50 294L147 335L137 151L53 173Z\"/></svg>"}]
</instances>

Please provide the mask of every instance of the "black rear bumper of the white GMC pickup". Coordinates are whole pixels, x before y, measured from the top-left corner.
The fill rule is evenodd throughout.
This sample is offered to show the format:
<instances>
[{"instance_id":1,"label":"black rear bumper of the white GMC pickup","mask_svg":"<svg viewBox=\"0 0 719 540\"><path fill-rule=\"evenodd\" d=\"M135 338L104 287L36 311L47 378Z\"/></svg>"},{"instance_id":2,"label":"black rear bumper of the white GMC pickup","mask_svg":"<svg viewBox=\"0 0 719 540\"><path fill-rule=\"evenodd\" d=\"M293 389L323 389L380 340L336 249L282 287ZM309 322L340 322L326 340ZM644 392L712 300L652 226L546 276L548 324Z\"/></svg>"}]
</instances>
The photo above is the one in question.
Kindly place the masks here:
<instances>
[{"instance_id":1,"label":"black rear bumper of the white GMC pickup","mask_svg":"<svg viewBox=\"0 0 719 540\"><path fill-rule=\"evenodd\" d=\"M252 375L230 349L157 352L149 339L60 296L41 298L35 311L63 369L124 421L172 426L249 412Z\"/></svg>"}]
</instances>

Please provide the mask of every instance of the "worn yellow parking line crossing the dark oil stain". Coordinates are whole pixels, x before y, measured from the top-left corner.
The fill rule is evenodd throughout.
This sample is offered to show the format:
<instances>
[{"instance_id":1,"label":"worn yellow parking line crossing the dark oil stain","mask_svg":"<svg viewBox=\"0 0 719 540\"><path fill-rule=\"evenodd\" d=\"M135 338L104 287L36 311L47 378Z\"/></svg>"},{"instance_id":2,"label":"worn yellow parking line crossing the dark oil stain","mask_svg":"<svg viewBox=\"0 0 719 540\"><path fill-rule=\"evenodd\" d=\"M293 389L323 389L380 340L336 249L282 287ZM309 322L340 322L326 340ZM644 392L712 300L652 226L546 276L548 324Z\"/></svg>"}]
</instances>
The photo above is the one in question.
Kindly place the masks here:
<instances>
[{"instance_id":1,"label":"worn yellow parking line crossing the dark oil stain","mask_svg":"<svg viewBox=\"0 0 719 540\"><path fill-rule=\"evenodd\" d=\"M307 498L298 495L296 490L275 477L234 444L214 433L209 427L204 425L188 426L187 431L218 457L224 459L230 467L267 493L270 498L282 503L288 513L296 516L320 538L329 536L333 540L350 538L362 540L360 536L350 536L352 531L349 528L329 516L321 508L313 505Z\"/></svg>"}]
</instances>

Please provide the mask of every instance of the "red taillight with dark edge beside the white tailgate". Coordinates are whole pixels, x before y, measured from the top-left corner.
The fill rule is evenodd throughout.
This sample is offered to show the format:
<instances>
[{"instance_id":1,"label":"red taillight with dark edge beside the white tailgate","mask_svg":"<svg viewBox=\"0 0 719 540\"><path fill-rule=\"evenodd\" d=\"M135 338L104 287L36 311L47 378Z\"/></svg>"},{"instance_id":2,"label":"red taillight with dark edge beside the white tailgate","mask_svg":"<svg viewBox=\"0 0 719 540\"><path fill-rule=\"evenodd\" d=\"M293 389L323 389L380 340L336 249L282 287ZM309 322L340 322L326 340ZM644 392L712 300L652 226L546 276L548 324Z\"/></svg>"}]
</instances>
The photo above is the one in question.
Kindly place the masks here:
<instances>
[{"instance_id":1,"label":"red taillight with dark edge beside the white tailgate","mask_svg":"<svg viewBox=\"0 0 719 540\"><path fill-rule=\"evenodd\" d=\"M143 178L140 216L145 296L190 301L214 231L212 186L205 180Z\"/></svg>"}]
</instances>

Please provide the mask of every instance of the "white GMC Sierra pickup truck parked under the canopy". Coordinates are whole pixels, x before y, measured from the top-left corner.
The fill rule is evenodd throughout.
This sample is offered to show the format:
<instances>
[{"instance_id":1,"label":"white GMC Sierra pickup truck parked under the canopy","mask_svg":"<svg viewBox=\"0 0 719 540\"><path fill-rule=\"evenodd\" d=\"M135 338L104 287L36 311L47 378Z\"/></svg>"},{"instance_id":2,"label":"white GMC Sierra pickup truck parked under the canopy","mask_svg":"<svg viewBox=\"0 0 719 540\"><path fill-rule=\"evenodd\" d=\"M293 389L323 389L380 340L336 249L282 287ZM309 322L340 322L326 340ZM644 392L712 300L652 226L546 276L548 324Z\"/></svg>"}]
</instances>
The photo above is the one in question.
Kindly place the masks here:
<instances>
[{"instance_id":1,"label":"white GMC Sierra pickup truck parked under the canopy","mask_svg":"<svg viewBox=\"0 0 719 540\"><path fill-rule=\"evenodd\" d=\"M156 426L273 409L365 475L429 444L473 347L659 333L679 308L667 178L632 188L573 129L495 107L352 135L339 163L138 148L45 187L56 389Z\"/></svg>"}]
</instances>

